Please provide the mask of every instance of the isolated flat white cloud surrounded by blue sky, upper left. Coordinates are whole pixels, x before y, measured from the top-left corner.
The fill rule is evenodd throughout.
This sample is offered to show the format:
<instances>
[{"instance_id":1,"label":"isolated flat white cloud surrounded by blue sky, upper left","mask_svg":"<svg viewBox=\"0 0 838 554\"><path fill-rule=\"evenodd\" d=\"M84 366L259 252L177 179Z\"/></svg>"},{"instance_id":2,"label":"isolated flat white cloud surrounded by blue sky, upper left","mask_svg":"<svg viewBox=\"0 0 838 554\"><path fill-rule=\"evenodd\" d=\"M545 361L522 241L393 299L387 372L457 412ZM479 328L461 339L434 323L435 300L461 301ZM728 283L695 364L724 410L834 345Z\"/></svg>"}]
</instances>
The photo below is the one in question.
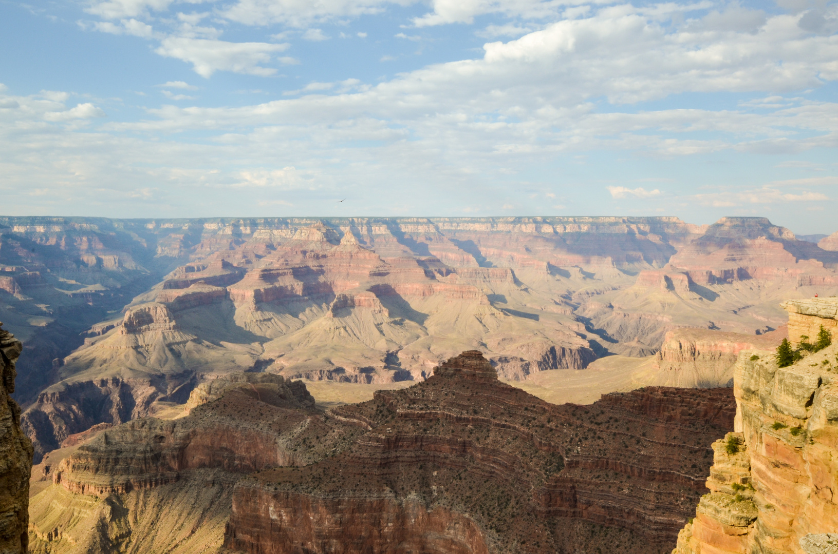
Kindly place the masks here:
<instances>
[{"instance_id":1,"label":"isolated flat white cloud surrounded by blue sky, upper left","mask_svg":"<svg viewBox=\"0 0 838 554\"><path fill-rule=\"evenodd\" d=\"M195 73L208 78L220 69L251 75L272 75L277 69L262 67L272 61L272 53L282 52L288 44L228 43L205 38L168 37L155 50L161 56L182 59L193 64Z\"/></svg>"}]
</instances>

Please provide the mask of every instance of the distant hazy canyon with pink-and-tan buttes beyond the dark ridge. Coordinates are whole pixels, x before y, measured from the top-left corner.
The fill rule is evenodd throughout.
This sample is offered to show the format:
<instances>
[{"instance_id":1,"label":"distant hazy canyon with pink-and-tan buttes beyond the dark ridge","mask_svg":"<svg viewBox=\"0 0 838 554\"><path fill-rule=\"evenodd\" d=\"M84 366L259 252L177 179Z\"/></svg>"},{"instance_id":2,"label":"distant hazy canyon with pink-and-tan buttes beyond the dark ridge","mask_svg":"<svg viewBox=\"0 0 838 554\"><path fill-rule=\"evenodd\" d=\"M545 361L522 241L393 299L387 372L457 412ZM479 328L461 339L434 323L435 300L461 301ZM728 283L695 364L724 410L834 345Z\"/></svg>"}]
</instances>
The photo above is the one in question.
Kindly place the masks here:
<instances>
[{"instance_id":1,"label":"distant hazy canyon with pink-and-tan buttes beyond the dark ridge","mask_svg":"<svg viewBox=\"0 0 838 554\"><path fill-rule=\"evenodd\" d=\"M0 218L0 318L39 462L243 370L384 386L477 349L522 386L597 364L629 368L612 390L723 386L836 265L765 218ZM743 337L696 362L689 328Z\"/></svg>"}]
</instances>

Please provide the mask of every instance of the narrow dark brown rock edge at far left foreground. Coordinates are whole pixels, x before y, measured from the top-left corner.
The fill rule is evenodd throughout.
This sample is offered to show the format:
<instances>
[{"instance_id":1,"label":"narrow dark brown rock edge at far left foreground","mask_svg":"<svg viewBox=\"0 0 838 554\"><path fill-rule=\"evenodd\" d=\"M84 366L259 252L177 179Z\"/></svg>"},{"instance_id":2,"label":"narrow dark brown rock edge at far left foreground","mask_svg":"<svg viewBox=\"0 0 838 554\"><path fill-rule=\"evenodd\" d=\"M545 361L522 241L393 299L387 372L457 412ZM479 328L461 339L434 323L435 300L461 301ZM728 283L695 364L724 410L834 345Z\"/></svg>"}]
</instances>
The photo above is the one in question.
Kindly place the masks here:
<instances>
[{"instance_id":1,"label":"narrow dark brown rock edge at far left foreground","mask_svg":"<svg viewBox=\"0 0 838 554\"><path fill-rule=\"evenodd\" d=\"M32 444L20 428L20 408L11 398L22 346L0 323L0 553L27 551L29 470Z\"/></svg>"}]
</instances>

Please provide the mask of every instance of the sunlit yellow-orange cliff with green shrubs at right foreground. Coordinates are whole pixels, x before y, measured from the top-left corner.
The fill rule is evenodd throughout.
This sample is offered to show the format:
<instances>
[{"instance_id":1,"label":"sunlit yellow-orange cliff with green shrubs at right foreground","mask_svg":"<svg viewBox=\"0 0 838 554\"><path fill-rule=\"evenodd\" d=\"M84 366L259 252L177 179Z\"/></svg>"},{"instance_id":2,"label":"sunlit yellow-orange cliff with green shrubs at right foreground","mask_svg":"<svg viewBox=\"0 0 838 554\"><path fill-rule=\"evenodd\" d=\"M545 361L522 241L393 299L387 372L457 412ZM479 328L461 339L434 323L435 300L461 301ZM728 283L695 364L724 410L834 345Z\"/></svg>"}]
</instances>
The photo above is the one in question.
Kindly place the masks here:
<instances>
[{"instance_id":1,"label":"sunlit yellow-orange cliff with green shrubs at right foreground","mask_svg":"<svg viewBox=\"0 0 838 554\"><path fill-rule=\"evenodd\" d=\"M831 313L809 301L789 302L788 308L791 315L809 311L801 314L808 317ZM821 541L813 535L838 526L833 493L838 490L838 346L790 367L777 367L773 354L742 351L739 356L737 433L713 445L707 480L712 492L680 532L678 554L803 554L819 551ZM729 441L734 443L730 450Z\"/></svg>"}]
</instances>

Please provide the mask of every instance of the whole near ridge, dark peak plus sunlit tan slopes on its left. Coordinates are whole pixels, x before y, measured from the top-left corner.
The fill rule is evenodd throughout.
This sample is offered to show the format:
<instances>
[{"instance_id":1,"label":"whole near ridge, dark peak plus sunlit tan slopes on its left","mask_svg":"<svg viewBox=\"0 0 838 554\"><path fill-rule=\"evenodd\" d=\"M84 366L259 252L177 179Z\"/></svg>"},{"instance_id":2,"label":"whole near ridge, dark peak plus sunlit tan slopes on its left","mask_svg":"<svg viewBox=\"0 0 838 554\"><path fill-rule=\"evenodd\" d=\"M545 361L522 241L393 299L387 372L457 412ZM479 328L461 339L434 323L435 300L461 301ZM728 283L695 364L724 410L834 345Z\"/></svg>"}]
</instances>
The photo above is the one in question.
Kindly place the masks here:
<instances>
[{"instance_id":1,"label":"whole near ridge, dark peak plus sunlit tan slopes on its left","mask_svg":"<svg viewBox=\"0 0 838 554\"><path fill-rule=\"evenodd\" d=\"M479 351L325 412L264 372L204 382L188 406L47 454L31 551L665 552L735 414L730 388L546 403Z\"/></svg>"}]
</instances>

